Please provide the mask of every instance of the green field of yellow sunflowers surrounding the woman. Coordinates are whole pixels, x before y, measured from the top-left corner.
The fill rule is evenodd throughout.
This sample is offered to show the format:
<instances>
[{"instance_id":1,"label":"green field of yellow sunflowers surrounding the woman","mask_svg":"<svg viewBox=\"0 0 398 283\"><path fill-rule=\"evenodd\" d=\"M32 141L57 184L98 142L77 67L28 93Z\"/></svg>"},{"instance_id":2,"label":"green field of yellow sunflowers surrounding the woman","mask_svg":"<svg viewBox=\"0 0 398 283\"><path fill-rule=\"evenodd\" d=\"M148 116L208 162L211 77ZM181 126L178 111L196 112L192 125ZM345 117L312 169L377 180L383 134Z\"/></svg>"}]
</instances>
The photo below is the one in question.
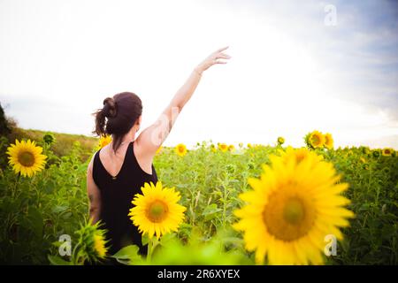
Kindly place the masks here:
<instances>
[{"instance_id":1,"label":"green field of yellow sunflowers surrounding the woman","mask_svg":"<svg viewBox=\"0 0 398 283\"><path fill-rule=\"evenodd\" d=\"M394 149L198 142L157 150L160 182L132 197L134 245L109 255L88 219L90 157L110 138L57 151L54 134L0 138L1 264L398 264Z\"/></svg>"}]
</instances>

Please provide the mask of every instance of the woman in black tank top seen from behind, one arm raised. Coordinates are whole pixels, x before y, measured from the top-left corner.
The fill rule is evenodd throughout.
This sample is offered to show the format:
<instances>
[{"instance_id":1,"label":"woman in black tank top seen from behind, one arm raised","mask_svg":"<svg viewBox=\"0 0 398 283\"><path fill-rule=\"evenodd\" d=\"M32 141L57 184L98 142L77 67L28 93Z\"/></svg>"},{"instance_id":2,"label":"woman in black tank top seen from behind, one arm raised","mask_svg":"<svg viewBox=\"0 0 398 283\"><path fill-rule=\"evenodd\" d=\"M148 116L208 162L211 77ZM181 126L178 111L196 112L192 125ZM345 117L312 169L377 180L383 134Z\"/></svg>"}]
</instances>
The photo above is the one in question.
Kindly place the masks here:
<instances>
[{"instance_id":1,"label":"woman in black tank top seen from behind, one arm raised","mask_svg":"<svg viewBox=\"0 0 398 283\"><path fill-rule=\"evenodd\" d=\"M109 253L134 244L145 254L141 234L128 218L135 194L145 182L157 182L152 164L159 146L165 142L178 114L194 94L202 73L216 64L226 64L230 56L219 49L195 67L177 91L157 122L135 137L142 120L142 103L138 96L125 92L108 97L103 109L96 111L98 135L111 134L112 142L96 152L88 164L87 188L89 216L93 223L103 222L111 247Z\"/></svg>"}]
</instances>

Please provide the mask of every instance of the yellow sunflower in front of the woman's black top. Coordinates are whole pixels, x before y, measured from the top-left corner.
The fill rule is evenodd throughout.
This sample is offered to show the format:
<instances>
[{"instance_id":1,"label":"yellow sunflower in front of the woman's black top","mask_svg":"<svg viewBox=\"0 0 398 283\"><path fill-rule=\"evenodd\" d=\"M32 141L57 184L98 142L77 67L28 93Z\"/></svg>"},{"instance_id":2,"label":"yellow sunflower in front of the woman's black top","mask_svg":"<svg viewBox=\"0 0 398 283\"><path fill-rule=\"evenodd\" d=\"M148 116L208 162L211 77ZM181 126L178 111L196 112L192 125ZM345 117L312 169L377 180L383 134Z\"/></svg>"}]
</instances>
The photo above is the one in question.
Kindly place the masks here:
<instances>
[{"instance_id":1,"label":"yellow sunflower in front of the woman's black top","mask_svg":"<svg viewBox=\"0 0 398 283\"><path fill-rule=\"evenodd\" d=\"M134 207L128 216L141 233L148 233L149 239L155 234L159 239L165 233L177 231L180 226L186 210L178 204L180 197L173 187L164 188L160 181L156 185L145 183L142 195L134 196Z\"/></svg>"}]
</instances>

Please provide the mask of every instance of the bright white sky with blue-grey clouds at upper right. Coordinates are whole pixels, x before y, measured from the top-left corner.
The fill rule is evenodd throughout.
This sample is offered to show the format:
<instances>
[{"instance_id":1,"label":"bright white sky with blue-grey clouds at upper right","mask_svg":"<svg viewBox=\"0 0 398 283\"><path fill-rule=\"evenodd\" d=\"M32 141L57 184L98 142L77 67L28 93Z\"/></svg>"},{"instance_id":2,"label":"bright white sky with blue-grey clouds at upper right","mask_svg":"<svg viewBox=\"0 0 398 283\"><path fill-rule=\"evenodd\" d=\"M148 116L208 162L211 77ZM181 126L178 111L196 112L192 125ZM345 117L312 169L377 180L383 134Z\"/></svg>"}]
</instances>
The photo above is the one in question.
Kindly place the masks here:
<instances>
[{"instance_id":1,"label":"bright white sky with blue-grey clouds at upper right","mask_svg":"<svg viewBox=\"0 0 398 283\"><path fill-rule=\"evenodd\" d=\"M90 134L103 99L131 91L149 126L226 45L166 145L302 146L318 129L398 149L396 1L0 0L0 103L19 126Z\"/></svg>"}]
</instances>

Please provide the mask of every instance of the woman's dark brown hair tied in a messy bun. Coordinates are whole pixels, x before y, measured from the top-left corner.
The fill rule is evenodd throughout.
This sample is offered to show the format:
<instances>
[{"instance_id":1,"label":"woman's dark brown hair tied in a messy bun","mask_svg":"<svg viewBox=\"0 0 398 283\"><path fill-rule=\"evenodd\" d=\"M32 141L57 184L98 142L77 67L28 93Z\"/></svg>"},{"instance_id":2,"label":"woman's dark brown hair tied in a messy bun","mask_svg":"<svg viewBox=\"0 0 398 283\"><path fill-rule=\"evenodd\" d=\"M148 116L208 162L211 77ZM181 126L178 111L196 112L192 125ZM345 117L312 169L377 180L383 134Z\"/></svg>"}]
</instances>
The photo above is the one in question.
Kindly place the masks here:
<instances>
[{"instance_id":1,"label":"woman's dark brown hair tied in a messy bun","mask_svg":"<svg viewBox=\"0 0 398 283\"><path fill-rule=\"evenodd\" d=\"M112 135L112 149L116 152L123 136L134 126L135 121L142 114L140 97L131 92L122 92L103 100L103 109L98 109L93 115L96 117L96 129L93 134Z\"/></svg>"}]
</instances>

